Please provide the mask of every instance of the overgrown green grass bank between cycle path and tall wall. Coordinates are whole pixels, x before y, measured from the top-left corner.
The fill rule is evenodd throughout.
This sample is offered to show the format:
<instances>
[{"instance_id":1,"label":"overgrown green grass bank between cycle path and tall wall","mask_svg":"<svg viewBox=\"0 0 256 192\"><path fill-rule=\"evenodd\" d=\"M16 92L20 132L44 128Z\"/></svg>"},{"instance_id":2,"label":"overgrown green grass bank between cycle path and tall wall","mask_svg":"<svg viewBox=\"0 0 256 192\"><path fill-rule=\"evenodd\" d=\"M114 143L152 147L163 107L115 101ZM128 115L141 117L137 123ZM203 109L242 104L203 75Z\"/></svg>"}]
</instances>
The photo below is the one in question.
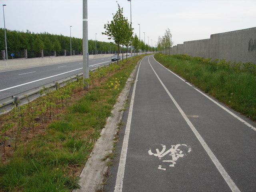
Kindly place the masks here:
<instances>
[{"instance_id":1,"label":"overgrown green grass bank between cycle path and tall wall","mask_svg":"<svg viewBox=\"0 0 256 192\"><path fill-rule=\"evenodd\" d=\"M220 102L256 120L255 66L224 60L211 62L210 59L191 58L187 55L156 54L154 57Z\"/></svg>"}]
</instances>

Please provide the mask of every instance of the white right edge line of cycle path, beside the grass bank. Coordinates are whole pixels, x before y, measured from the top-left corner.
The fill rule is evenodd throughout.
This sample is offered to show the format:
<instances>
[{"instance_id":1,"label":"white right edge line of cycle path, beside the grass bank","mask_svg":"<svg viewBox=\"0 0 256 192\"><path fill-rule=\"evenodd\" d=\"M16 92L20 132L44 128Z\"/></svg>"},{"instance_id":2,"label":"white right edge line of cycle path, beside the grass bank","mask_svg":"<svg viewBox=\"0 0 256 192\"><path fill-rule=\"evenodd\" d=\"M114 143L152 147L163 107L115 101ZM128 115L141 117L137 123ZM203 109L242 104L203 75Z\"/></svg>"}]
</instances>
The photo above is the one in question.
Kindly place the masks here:
<instances>
[{"instance_id":1,"label":"white right edge line of cycle path, beside the grass bank","mask_svg":"<svg viewBox=\"0 0 256 192\"><path fill-rule=\"evenodd\" d=\"M153 57L154 58L154 57ZM156 62L158 62L155 58L154 60ZM158 62L159 63L159 62ZM159 63L160 64L160 63ZM162 64L160 64L161 66L163 66ZM166 68L165 66L163 66L164 68ZM166 68L168 71L170 71L172 74L176 75L174 72L172 72L171 70L169 70L168 68ZM176 75L178 78L180 78L178 75ZM180 78L182 81L184 81L182 78ZM184 81L185 82L185 81ZM186 82L186 84L188 84L189 86L193 87L190 83ZM211 100L212 102L214 102L216 105L218 105L220 108L224 109L226 112L228 112L230 115L232 115L234 118L238 119L239 121L241 121L242 123L244 123L246 126L250 127L252 130L256 131L256 128L254 126L252 126L251 124L249 124L248 122L246 122L245 120L243 120L242 118L238 117L236 114L234 114L233 112L231 112L230 110L228 110L227 108L225 108L224 106L222 106L221 104L219 104L218 102L214 101L212 98L210 98L208 95L204 94L202 91L198 90L197 88L193 87L195 90L197 90L198 92L200 92L203 96L205 96L206 98L208 98L209 100Z\"/></svg>"}]
</instances>

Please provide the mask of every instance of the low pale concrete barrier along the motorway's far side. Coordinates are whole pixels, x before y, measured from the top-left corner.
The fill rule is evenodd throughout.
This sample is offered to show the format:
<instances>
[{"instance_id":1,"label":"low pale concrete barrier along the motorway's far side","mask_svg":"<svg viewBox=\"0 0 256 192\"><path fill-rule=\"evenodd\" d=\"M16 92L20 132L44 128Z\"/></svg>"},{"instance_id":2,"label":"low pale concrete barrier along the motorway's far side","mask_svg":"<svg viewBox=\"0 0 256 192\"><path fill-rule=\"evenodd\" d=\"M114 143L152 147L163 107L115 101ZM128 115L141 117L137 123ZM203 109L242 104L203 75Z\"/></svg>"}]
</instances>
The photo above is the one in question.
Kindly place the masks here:
<instances>
[{"instance_id":1,"label":"low pale concrete barrier along the motorway's far side","mask_svg":"<svg viewBox=\"0 0 256 192\"><path fill-rule=\"evenodd\" d=\"M89 55L89 59L104 58L104 57L110 57L110 56L112 56L112 54ZM54 63L82 61L82 60L83 60L82 55L7 60L7 61L0 61L0 71L32 67L32 66L42 66L42 65L54 64Z\"/></svg>"}]
</instances>

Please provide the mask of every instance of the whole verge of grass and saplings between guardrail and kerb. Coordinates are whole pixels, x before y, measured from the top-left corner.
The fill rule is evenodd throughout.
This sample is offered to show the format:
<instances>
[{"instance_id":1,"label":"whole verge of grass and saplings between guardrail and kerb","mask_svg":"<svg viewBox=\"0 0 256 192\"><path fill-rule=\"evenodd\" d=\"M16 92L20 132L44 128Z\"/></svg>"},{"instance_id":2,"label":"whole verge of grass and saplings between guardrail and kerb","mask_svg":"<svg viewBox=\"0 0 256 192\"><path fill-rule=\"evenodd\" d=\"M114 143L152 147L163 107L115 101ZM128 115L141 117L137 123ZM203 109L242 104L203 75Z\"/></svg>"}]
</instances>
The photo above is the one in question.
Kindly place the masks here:
<instances>
[{"instance_id":1,"label":"whole verge of grass and saplings between guardrail and kerb","mask_svg":"<svg viewBox=\"0 0 256 192\"><path fill-rule=\"evenodd\" d=\"M140 58L91 73L88 91L79 82L70 83L58 94L47 93L0 116L0 191L79 188L80 172Z\"/></svg>"}]
</instances>

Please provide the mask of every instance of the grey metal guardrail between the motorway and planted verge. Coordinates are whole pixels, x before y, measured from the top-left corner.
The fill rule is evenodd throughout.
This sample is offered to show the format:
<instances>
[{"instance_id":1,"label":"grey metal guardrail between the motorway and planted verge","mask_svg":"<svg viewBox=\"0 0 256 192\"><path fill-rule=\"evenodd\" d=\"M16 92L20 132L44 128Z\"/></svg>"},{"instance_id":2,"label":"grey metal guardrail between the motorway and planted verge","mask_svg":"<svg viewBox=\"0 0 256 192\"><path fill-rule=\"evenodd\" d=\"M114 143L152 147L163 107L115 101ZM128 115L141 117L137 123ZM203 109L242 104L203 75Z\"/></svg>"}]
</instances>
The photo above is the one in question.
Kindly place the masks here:
<instances>
[{"instance_id":1,"label":"grey metal guardrail between the motorway and planted verge","mask_svg":"<svg viewBox=\"0 0 256 192\"><path fill-rule=\"evenodd\" d=\"M108 66L109 64L103 65ZM95 67L91 69L90 71L96 70L98 67ZM8 96L4 99L0 99L0 114L3 114L5 112L8 112L12 109L12 106L19 104L26 104L28 102L28 99L34 100L40 96L40 90L47 90L47 89L57 89L58 87L63 87L66 82L74 82L78 80L78 78L82 77L83 73L80 72L78 74L74 74L72 76L67 76L65 78L52 81L50 83L44 84L42 86L38 86L29 90L26 90L24 92L20 92L18 94ZM27 99L28 98L28 99Z\"/></svg>"}]
</instances>

